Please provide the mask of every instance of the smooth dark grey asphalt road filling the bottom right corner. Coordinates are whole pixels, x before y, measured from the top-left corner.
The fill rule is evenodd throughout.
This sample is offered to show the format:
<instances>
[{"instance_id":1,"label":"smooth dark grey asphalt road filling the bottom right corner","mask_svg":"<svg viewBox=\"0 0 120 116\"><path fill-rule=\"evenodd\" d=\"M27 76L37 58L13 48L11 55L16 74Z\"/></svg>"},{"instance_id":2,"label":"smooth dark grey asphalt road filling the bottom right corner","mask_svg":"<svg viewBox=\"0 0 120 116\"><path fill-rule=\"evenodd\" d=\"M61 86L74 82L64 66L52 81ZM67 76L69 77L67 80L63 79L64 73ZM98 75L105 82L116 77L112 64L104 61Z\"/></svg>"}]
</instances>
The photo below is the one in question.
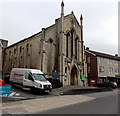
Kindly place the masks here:
<instances>
[{"instance_id":1,"label":"smooth dark grey asphalt road filling the bottom right corner","mask_svg":"<svg viewBox=\"0 0 120 116\"><path fill-rule=\"evenodd\" d=\"M118 94L112 94L97 97L97 99L88 102L37 112L37 114L118 114L118 104L120 104L118 98Z\"/></svg>"}]
</instances>

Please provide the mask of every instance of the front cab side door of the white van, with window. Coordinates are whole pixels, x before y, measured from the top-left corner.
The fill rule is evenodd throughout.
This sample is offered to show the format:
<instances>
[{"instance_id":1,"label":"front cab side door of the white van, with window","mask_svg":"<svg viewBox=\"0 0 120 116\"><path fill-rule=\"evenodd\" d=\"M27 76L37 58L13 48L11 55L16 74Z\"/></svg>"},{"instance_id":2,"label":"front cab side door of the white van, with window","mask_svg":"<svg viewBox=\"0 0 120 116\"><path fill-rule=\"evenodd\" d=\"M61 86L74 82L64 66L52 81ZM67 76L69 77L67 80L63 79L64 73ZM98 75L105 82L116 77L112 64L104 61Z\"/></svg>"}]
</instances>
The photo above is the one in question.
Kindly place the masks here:
<instances>
[{"instance_id":1,"label":"front cab side door of the white van, with window","mask_svg":"<svg viewBox=\"0 0 120 116\"><path fill-rule=\"evenodd\" d=\"M32 76L31 76L31 78L32 78ZM25 72L25 77L23 79L23 86L24 87L32 87L33 86L33 82L34 81L32 79L30 79L30 73Z\"/></svg>"}]
</instances>

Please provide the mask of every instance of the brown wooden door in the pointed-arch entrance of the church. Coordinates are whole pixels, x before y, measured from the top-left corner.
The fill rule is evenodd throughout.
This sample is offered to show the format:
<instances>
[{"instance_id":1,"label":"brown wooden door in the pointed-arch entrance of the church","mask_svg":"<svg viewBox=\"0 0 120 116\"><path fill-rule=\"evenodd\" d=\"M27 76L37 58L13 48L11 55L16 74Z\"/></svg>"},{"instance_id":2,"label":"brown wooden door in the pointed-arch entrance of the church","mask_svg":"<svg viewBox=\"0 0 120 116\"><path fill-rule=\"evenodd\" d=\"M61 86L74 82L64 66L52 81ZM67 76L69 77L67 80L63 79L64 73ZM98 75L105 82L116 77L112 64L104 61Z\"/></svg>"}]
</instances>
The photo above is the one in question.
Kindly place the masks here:
<instances>
[{"instance_id":1,"label":"brown wooden door in the pointed-arch entrance of the church","mask_svg":"<svg viewBox=\"0 0 120 116\"><path fill-rule=\"evenodd\" d=\"M78 85L78 76L77 76L77 68L73 67L71 70L71 75L70 75L70 84L71 85Z\"/></svg>"}]
</instances>

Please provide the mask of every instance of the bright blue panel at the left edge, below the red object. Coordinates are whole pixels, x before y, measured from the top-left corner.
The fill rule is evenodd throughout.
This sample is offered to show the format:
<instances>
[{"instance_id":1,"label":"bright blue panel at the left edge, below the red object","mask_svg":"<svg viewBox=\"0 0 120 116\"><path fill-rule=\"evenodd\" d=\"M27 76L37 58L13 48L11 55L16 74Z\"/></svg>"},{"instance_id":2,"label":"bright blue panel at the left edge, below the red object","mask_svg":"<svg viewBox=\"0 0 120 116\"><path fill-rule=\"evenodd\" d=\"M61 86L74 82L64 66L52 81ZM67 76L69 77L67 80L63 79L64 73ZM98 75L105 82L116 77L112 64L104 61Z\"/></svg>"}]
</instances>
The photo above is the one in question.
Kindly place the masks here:
<instances>
[{"instance_id":1,"label":"bright blue panel at the left edge, below the red object","mask_svg":"<svg viewBox=\"0 0 120 116\"><path fill-rule=\"evenodd\" d=\"M11 93L11 85L0 86L0 95L9 95Z\"/></svg>"}]
</instances>

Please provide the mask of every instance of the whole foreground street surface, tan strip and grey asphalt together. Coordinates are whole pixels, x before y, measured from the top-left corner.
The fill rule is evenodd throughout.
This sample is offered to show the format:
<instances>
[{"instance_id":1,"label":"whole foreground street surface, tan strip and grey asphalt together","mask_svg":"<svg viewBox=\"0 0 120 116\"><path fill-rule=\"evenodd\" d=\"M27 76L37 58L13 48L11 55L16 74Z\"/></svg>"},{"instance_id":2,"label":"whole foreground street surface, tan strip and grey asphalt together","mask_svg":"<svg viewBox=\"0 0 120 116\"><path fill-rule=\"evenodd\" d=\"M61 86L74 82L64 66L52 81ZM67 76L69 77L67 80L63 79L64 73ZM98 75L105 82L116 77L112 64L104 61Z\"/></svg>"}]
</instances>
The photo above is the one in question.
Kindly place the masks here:
<instances>
[{"instance_id":1,"label":"whole foreground street surface, tan strip and grey asphalt together","mask_svg":"<svg viewBox=\"0 0 120 116\"><path fill-rule=\"evenodd\" d=\"M117 114L118 91L11 101L3 103L2 111L3 114Z\"/></svg>"}]
</instances>

